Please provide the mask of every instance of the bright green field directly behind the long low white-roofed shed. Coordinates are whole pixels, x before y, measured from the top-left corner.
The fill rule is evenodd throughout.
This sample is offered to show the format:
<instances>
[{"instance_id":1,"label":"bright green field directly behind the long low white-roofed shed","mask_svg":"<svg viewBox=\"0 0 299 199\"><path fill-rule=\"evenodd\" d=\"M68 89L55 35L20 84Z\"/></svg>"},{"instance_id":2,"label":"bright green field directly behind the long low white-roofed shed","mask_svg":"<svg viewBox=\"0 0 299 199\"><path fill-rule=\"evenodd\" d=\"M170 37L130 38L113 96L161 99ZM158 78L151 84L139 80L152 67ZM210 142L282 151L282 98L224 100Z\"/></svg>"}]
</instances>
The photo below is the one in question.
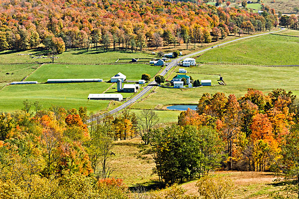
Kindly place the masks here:
<instances>
[{"instance_id":1,"label":"bright green field directly behind the long low white-roofed shed","mask_svg":"<svg viewBox=\"0 0 299 199\"><path fill-rule=\"evenodd\" d=\"M148 64L119 64L119 65L64 65L45 64L30 75L27 81L46 82L47 79L59 78L101 78L110 80L118 72L127 76L127 80L141 79L143 73L153 77L160 70L159 66Z\"/></svg>"}]
</instances>

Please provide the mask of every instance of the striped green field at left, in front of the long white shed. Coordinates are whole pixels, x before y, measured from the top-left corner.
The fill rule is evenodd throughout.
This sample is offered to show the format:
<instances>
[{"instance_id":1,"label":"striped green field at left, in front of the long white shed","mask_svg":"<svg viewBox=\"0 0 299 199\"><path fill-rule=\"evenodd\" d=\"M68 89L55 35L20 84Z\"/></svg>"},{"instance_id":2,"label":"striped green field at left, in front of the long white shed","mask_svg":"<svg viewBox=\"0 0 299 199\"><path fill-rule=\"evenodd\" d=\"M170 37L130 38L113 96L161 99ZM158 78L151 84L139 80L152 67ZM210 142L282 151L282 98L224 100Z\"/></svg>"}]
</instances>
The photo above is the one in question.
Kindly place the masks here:
<instances>
[{"instance_id":1,"label":"striped green field at left, in front of the long white shed","mask_svg":"<svg viewBox=\"0 0 299 199\"><path fill-rule=\"evenodd\" d=\"M103 93L108 83L65 83L9 85L0 91L0 112L20 110L23 101L39 101L43 108L51 105L66 109L86 106L88 111L97 112L107 108L107 100L88 100L90 93Z\"/></svg>"}]
</instances>

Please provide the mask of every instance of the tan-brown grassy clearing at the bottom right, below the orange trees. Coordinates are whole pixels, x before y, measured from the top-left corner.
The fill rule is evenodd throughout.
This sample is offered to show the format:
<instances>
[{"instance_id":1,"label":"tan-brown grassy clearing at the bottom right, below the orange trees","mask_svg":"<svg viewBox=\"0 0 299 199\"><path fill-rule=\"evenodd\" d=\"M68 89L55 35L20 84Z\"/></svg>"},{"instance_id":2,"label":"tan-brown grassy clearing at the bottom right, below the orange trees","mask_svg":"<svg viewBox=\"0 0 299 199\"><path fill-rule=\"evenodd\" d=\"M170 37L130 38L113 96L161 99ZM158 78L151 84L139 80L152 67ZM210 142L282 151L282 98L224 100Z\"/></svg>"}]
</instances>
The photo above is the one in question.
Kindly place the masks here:
<instances>
[{"instance_id":1,"label":"tan-brown grassy clearing at the bottom right, below the orange trees","mask_svg":"<svg viewBox=\"0 0 299 199\"><path fill-rule=\"evenodd\" d=\"M215 172L212 175L225 176L234 182L233 199L266 199L272 198L271 194L278 193L282 188L273 183L274 174L266 172ZM199 196L196 182L191 181L181 185L187 190L186 194Z\"/></svg>"}]
</instances>

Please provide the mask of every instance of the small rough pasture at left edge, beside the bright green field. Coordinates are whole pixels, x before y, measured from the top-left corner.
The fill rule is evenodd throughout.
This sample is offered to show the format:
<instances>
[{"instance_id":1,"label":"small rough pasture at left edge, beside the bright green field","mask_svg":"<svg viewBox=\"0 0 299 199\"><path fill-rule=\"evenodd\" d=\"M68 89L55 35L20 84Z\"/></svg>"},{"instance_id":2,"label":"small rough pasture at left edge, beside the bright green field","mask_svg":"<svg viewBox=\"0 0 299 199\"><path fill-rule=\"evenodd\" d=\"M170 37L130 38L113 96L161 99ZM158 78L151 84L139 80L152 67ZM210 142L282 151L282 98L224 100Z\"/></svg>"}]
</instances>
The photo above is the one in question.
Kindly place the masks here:
<instances>
[{"instance_id":1,"label":"small rough pasture at left edge, beside the bright green field","mask_svg":"<svg viewBox=\"0 0 299 199\"><path fill-rule=\"evenodd\" d=\"M30 74L37 67L37 64L0 64L0 88L2 88L7 83L13 81L21 81L26 75Z\"/></svg>"}]
</instances>

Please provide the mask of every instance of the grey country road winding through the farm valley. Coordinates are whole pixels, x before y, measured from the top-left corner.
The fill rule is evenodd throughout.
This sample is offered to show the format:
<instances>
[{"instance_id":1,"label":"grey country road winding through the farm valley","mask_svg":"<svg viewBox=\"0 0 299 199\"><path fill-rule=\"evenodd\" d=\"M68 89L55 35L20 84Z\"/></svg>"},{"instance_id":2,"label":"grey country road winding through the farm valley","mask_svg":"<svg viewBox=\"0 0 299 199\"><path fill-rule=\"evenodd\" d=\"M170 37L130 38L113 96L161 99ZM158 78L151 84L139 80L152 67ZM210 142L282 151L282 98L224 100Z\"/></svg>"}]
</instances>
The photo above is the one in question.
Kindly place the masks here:
<instances>
[{"instance_id":1,"label":"grey country road winding through the farm valley","mask_svg":"<svg viewBox=\"0 0 299 199\"><path fill-rule=\"evenodd\" d=\"M266 34L271 34L271 33L274 33L274 32L280 32L282 30L284 30L285 28L280 28L280 30L277 30L277 31L273 31L273 32L265 32L265 33L261 33L261 34L255 34L255 35L251 35L251 36L246 36L246 37L241 37L241 38L238 38L238 39L234 39L234 40L230 40L230 41L226 41L226 42L223 42L223 43L220 43L220 44L217 44L215 46L211 46L211 47L208 47L208 48L205 48L203 50L199 50L197 52L193 52L193 53L190 53L190 54L187 54L187 55L184 55L184 56L181 56L179 58L176 58L176 59L173 59L170 63L168 63L168 65L164 68L164 70L160 73L160 75L164 76L173 66L176 66L176 63L181 60L181 59L184 59L184 58L187 58L187 57L191 57L191 56L194 56L194 55L197 55L197 54L200 54L200 53L203 53L203 52L206 52L208 50L211 50L213 49L214 47L218 47L218 46L222 46L222 45L226 45L226 44L229 44L229 43L233 43L233 42L236 42L236 41L240 41L240 40L243 40L243 39L247 39L247 38L252 38L252 37L256 37L256 36L261 36L261 35L266 35ZM128 100L127 102L125 102L124 104L122 104L121 106L109 111L108 113L105 113L103 115L100 115L100 116L97 116L93 119L89 119L87 120L87 123L90 123L90 122L93 122L95 120L97 120L98 118L103 118L105 115L110 115L110 114L113 114L113 113L117 113L123 109L125 109L126 107L130 106L132 103L136 102L137 100L139 100L140 98L142 98L145 94L147 94L150 89L153 87L153 85L155 85L156 82L155 81L152 81L152 82L149 82L148 86L146 86L144 88L144 90L142 90L140 93L138 93L136 96L134 96L132 99Z\"/></svg>"}]
</instances>

